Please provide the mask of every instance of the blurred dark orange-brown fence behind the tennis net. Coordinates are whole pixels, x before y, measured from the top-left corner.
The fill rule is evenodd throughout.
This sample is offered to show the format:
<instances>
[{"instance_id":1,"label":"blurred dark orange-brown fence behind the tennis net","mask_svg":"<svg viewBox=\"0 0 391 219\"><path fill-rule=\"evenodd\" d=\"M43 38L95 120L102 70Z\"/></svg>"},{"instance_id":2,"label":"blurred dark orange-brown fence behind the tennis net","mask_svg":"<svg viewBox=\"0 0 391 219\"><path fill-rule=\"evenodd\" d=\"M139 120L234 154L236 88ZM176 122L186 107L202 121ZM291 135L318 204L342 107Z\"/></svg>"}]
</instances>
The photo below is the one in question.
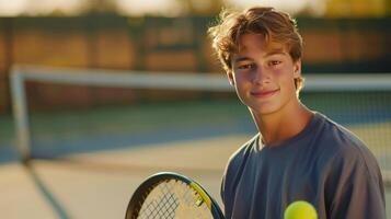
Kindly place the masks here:
<instances>
[{"instance_id":1,"label":"blurred dark orange-brown fence behind the tennis net","mask_svg":"<svg viewBox=\"0 0 391 219\"><path fill-rule=\"evenodd\" d=\"M0 18L0 113L11 112L9 71L14 64L222 72L206 36L214 22L211 16ZM391 72L390 23L391 18L298 18L304 38L303 73ZM120 89L93 89L92 95L91 88L73 88L79 93L74 96L67 90L27 84L36 99L32 103L48 107L60 106L61 100L67 105L85 106L135 95ZM49 101L53 96L55 102Z\"/></svg>"}]
</instances>

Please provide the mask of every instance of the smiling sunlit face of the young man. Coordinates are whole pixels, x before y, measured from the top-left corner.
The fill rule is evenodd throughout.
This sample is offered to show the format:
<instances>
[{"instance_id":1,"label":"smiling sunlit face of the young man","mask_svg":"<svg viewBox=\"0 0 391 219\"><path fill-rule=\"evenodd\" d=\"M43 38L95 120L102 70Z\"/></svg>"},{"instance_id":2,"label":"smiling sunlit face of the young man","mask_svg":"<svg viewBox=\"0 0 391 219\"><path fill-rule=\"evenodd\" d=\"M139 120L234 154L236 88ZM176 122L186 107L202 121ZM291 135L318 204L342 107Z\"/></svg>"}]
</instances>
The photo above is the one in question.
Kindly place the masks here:
<instances>
[{"instance_id":1,"label":"smiling sunlit face of the young man","mask_svg":"<svg viewBox=\"0 0 391 219\"><path fill-rule=\"evenodd\" d=\"M260 115L289 110L298 101L295 78L300 77L300 60L294 62L284 45L265 44L264 37L245 34L240 51L232 56L232 71L227 72L239 99Z\"/></svg>"}]
</instances>

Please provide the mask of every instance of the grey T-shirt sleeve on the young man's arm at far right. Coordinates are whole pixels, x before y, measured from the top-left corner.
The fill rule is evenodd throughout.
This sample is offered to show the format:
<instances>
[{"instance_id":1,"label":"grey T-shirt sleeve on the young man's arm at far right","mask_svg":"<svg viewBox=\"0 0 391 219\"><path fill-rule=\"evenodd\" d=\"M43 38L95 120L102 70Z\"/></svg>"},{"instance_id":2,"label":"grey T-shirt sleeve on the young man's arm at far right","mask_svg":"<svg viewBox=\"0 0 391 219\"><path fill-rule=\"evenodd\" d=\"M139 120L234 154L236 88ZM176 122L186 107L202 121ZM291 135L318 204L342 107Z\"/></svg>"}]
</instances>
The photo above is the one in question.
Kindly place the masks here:
<instances>
[{"instance_id":1,"label":"grey T-shirt sleeve on the young man's arm at far right","mask_svg":"<svg viewBox=\"0 0 391 219\"><path fill-rule=\"evenodd\" d=\"M331 219L386 219L384 187L375 157L360 148L342 151L329 182Z\"/></svg>"}]
</instances>

